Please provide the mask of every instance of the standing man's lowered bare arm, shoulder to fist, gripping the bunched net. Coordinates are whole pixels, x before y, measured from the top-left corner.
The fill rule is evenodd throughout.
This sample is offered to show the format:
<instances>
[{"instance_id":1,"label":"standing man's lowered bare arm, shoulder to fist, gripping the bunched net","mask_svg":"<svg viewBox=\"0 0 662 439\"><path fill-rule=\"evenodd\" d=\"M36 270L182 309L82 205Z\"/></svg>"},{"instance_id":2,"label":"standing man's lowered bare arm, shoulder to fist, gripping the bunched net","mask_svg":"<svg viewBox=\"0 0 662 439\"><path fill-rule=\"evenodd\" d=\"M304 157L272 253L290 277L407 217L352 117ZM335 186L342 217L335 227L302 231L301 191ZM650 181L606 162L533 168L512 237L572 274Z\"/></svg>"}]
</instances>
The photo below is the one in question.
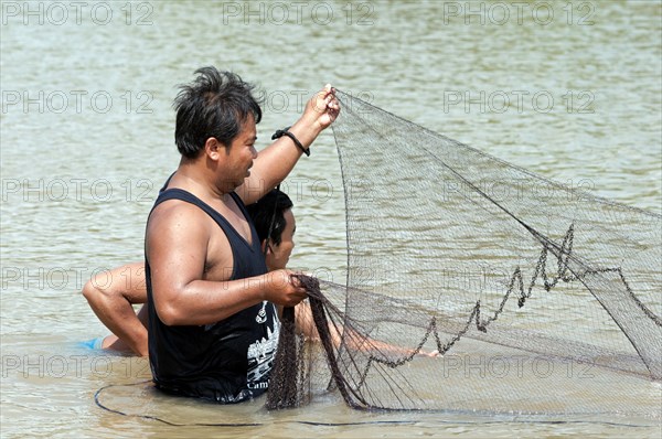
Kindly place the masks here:
<instances>
[{"instance_id":1,"label":"standing man's lowered bare arm, shoulder to fist, gripping the bunched net","mask_svg":"<svg viewBox=\"0 0 662 439\"><path fill-rule=\"evenodd\" d=\"M241 280L203 280L211 227L217 226L204 212L183 202L164 202L150 216L147 257L156 311L164 324L209 324L263 300L295 306L306 298L288 270ZM229 244L227 251L232 251Z\"/></svg>"}]
</instances>

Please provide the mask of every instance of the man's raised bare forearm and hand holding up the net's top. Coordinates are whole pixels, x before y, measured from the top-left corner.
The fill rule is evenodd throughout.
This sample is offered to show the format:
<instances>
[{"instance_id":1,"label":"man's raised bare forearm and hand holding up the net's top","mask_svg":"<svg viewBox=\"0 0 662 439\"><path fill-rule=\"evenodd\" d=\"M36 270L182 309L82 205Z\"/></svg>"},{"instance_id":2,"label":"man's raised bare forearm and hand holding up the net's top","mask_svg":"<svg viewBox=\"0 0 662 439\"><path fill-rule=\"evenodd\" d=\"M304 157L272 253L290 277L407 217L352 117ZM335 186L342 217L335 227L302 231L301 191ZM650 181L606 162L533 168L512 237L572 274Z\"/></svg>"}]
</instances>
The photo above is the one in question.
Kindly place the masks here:
<instances>
[{"instance_id":1,"label":"man's raised bare forearm and hand holding up the net's top","mask_svg":"<svg viewBox=\"0 0 662 439\"><path fill-rule=\"evenodd\" d=\"M319 133L338 117L340 104L334 93L330 85L317 93L306 105L301 118L289 129L303 148L309 148ZM259 151L250 169L250 176L236 190L244 204L255 203L280 183L301 154L302 151L287 136Z\"/></svg>"}]
</instances>

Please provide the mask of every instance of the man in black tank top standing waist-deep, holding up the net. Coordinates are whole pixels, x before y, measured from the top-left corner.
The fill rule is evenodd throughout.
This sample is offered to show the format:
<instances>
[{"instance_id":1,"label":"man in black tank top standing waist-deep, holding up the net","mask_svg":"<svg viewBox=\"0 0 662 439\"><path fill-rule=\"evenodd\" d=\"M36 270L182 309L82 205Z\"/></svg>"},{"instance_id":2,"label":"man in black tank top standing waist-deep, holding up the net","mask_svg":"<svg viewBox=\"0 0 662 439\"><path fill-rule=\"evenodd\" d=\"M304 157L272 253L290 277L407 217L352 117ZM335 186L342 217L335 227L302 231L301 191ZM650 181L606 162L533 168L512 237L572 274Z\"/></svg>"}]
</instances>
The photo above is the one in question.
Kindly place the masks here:
<instances>
[{"instance_id":1,"label":"man in black tank top standing waist-deep, holding up the net","mask_svg":"<svg viewBox=\"0 0 662 439\"><path fill-rule=\"evenodd\" d=\"M147 225L149 356L157 387L237 403L268 386L274 304L306 298L291 271L267 272L244 205L287 176L340 106L324 87L258 157L252 86L214 67L196 74L174 101L182 159Z\"/></svg>"}]
</instances>

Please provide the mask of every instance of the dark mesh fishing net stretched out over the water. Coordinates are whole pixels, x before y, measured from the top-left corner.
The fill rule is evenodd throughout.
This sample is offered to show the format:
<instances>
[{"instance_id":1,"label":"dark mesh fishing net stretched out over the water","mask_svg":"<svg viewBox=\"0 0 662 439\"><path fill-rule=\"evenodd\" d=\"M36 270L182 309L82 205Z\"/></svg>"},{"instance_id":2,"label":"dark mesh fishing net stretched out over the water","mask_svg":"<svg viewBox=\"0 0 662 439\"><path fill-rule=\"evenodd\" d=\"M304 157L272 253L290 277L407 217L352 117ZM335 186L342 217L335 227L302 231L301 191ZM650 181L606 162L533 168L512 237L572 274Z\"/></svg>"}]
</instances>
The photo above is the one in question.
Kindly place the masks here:
<instances>
[{"instance_id":1,"label":"dark mesh fishing net stretched out over the water","mask_svg":"<svg viewBox=\"0 0 662 439\"><path fill-rule=\"evenodd\" d=\"M346 285L303 279L321 343L282 338L267 407L332 388L355 408L660 421L662 216L338 97Z\"/></svg>"}]
</instances>

